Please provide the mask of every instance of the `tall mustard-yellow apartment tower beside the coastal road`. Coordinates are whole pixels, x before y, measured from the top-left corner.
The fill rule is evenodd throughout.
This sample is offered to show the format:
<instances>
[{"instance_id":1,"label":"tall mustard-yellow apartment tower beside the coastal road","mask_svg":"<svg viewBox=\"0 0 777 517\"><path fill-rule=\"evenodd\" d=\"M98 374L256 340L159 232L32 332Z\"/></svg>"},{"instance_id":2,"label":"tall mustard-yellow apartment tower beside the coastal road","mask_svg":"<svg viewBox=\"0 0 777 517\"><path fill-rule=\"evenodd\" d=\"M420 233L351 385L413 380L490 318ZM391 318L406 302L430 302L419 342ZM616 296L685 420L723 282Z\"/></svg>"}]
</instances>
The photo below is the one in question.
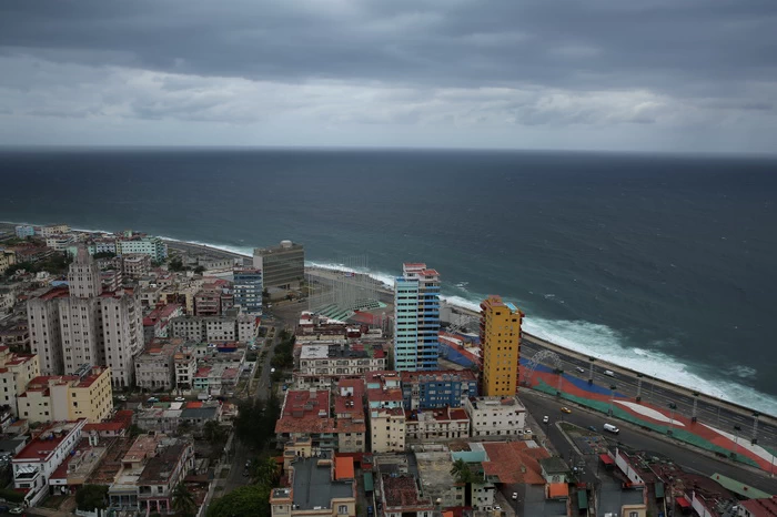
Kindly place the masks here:
<instances>
[{"instance_id":1,"label":"tall mustard-yellow apartment tower beside the coastal road","mask_svg":"<svg viewBox=\"0 0 777 517\"><path fill-rule=\"evenodd\" d=\"M523 316L500 296L491 295L481 303L482 381L483 395L487 397L515 395Z\"/></svg>"}]
</instances>

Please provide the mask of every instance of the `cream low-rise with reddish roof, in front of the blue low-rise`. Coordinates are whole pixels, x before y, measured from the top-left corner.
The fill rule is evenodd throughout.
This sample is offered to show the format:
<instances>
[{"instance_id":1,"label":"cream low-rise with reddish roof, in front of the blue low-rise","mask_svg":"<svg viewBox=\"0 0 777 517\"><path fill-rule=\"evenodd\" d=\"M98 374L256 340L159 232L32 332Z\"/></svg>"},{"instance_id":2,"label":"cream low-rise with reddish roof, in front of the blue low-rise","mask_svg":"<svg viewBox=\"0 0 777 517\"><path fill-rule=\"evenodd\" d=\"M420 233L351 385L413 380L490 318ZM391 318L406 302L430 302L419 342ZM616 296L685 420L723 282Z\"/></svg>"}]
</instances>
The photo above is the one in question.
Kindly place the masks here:
<instances>
[{"instance_id":1,"label":"cream low-rise with reddish roof, in front of the blue low-rise","mask_svg":"<svg viewBox=\"0 0 777 517\"><path fill-rule=\"evenodd\" d=\"M440 443L470 437L470 418L461 407L405 412L407 442Z\"/></svg>"}]
</instances>

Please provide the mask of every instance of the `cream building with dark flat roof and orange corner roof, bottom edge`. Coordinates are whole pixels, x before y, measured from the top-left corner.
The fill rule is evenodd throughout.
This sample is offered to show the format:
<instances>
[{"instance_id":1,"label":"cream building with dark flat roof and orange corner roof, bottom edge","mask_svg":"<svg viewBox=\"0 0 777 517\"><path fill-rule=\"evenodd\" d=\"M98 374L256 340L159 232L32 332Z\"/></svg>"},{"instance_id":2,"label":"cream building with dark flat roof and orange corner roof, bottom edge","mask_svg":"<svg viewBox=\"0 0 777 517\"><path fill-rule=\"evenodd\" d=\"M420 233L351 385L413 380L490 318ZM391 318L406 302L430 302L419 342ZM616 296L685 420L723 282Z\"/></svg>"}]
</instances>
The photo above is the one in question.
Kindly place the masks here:
<instances>
[{"instance_id":1,"label":"cream building with dark flat roof and orange corner roof, bottom edge","mask_svg":"<svg viewBox=\"0 0 777 517\"><path fill-rule=\"evenodd\" d=\"M351 459L351 458L346 458ZM331 453L297 456L289 467L290 487L273 488L273 517L355 517L356 481L353 463L335 466Z\"/></svg>"}]
</instances>

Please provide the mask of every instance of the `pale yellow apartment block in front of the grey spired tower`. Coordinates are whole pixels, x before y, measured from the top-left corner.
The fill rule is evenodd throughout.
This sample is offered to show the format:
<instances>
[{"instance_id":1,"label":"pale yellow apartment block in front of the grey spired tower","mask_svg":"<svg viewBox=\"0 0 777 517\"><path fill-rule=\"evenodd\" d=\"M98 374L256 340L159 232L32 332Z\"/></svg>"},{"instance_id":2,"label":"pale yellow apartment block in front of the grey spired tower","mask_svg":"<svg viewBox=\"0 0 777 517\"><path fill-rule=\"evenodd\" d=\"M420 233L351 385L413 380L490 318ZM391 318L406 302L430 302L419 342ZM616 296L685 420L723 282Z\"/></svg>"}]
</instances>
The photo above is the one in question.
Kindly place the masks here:
<instances>
[{"instance_id":1,"label":"pale yellow apartment block in front of the grey spired tower","mask_svg":"<svg viewBox=\"0 0 777 517\"><path fill-rule=\"evenodd\" d=\"M84 365L75 375L36 377L19 395L18 408L19 417L30 422L102 422L113 409L111 369Z\"/></svg>"}]
</instances>

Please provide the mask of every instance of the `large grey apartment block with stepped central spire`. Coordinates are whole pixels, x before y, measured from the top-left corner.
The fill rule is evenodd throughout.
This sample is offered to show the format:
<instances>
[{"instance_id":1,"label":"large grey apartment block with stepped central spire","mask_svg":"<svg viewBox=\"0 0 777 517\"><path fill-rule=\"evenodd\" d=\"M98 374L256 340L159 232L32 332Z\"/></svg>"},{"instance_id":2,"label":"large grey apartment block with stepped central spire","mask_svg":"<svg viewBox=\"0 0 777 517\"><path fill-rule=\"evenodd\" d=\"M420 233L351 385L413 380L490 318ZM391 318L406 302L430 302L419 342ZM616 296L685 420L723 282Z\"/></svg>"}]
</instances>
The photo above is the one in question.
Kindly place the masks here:
<instances>
[{"instance_id":1,"label":"large grey apartment block with stepped central spire","mask_svg":"<svg viewBox=\"0 0 777 517\"><path fill-rule=\"evenodd\" d=\"M103 293L100 270L83 246L70 264L68 284L28 301L30 339L41 372L73 374L82 364L107 365L114 387L132 385L132 359L143 347L138 293Z\"/></svg>"}]
</instances>

